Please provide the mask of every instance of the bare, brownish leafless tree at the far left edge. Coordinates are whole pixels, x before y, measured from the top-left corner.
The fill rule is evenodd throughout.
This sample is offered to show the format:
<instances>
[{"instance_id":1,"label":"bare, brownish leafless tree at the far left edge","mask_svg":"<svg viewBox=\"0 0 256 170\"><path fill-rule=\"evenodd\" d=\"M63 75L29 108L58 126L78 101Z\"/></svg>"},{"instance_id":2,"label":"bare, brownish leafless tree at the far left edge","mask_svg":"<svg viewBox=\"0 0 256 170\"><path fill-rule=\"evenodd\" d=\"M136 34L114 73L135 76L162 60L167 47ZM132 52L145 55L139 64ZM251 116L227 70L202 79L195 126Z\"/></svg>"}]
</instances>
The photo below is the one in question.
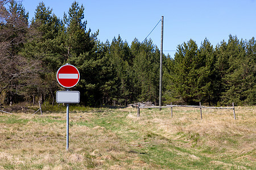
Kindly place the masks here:
<instances>
[{"instance_id":1,"label":"bare, brownish leafless tree at the far left edge","mask_svg":"<svg viewBox=\"0 0 256 170\"><path fill-rule=\"evenodd\" d=\"M0 0L0 94L9 103L20 87L38 73L39 62L19 54L28 30L28 13L14 0Z\"/></svg>"}]
</instances>

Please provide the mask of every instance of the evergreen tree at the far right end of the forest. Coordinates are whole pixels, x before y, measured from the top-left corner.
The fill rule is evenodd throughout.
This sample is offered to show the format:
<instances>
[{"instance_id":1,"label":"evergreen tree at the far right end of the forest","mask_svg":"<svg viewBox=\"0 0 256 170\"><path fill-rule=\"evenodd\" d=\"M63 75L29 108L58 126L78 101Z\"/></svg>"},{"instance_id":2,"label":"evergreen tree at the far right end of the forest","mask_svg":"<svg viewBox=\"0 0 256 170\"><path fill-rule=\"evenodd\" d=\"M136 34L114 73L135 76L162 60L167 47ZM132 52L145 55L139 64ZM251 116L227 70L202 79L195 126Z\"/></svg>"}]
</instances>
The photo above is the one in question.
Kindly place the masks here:
<instances>
[{"instance_id":1,"label":"evergreen tree at the far right end of the forest","mask_svg":"<svg viewBox=\"0 0 256 170\"><path fill-rule=\"evenodd\" d=\"M254 40L250 40L253 42ZM253 42L255 44L255 42ZM232 102L242 105L247 99L255 99L255 55L246 54L248 49L245 41L239 41L236 36L229 36L225 53L228 58L228 69L222 77L224 90L222 91L222 104ZM253 71L254 70L254 71ZM249 100L254 101L254 100Z\"/></svg>"}]
</instances>

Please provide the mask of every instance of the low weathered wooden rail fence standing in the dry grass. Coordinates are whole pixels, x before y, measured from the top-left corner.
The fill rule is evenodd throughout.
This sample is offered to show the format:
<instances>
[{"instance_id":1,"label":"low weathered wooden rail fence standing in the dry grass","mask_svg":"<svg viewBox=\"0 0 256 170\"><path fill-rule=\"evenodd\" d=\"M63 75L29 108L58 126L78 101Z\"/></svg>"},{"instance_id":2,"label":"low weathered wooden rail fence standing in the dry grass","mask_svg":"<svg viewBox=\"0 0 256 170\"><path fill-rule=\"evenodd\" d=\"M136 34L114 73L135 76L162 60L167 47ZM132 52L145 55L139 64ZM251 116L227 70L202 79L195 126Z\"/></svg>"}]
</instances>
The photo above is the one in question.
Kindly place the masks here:
<instances>
[{"instance_id":1,"label":"low weathered wooden rail fence standing in the dry grass","mask_svg":"<svg viewBox=\"0 0 256 170\"><path fill-rule=\"evenodd\" d=\"M140 109L142 108L171 108L171 117L172 117L172 108L174 107L189 107L189 108L199 108L200 109L200 114L201 114L201 119L203 119L203 114L202 114L202 109L233 109L233 113L234 113L234 120L236 120L236 113L235 113L235 109L234 109L234 103L232 103L233 107L229 108L229 107L206 107L201 105L201 102L199 105L166 105L166 106L140 106L140 104L138 103L137 105L137 117L140 116Z\"/></svg>"}]
</instances>

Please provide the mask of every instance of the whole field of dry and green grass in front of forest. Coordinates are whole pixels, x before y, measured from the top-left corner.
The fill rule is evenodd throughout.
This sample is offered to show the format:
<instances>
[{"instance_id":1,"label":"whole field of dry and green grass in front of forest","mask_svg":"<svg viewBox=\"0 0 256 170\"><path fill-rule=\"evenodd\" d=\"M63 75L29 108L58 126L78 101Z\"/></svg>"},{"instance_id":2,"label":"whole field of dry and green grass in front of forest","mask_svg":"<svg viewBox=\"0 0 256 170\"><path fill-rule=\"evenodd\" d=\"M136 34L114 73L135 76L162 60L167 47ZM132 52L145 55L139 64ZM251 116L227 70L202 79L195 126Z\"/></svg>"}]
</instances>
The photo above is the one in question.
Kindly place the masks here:
<instances>
[{"instance_id":1,"label":"whole field of dry and green grass in front of forest","mask_svg":"<svg viewBox=\"0 0 256 170\"><path fill-rule=\"evenodd\" d=\"M72 106L71 106L72 107ZM73 111L73 110L72 110ZM0 169L256 169L256 107L0 113Z\"/></svg>"}]
</instances>

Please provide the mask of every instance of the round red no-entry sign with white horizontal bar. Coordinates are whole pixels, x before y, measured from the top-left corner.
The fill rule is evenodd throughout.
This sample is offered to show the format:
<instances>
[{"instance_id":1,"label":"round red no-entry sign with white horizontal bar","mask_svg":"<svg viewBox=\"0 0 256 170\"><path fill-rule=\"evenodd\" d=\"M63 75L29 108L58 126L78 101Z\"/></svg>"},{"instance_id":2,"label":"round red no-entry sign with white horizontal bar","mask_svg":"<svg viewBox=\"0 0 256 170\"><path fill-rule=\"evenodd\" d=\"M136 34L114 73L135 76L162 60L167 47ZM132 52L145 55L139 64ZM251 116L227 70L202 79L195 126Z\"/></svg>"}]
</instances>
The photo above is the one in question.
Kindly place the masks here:
<instances>
[{"instance_id":1,"label":"round red no-entry sign with white horizontal bar","mask_svg":"<svg viewBox=\"0 0 256 170\"><path fill-rule=\"evenodd\" d=\"M66 64L59 68L56 77L61 86L71 88L79 82L80 74L75 66Z\"/></svg>"}]
</instances>

